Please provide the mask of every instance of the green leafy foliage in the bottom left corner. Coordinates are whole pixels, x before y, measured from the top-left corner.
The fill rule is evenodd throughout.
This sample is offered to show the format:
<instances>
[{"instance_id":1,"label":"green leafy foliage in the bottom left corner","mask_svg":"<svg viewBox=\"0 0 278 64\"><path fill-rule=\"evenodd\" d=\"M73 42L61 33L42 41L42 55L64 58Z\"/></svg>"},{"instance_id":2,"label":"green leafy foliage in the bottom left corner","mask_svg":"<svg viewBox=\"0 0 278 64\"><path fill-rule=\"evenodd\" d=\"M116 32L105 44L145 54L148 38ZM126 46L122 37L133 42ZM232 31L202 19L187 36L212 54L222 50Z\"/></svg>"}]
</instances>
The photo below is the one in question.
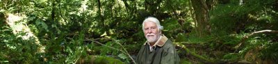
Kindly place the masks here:
<instances>
[{"instance_id":1,"label":"green leafy foliage in the bottom left corner","mask_svg":"<svg viewBox=\"0 0 278 64\"><path fill-rule=\"evenodd\" d=\"M39 63L41 57L37 53L38 45L33 38L23 40L24 32L11 33L10 28L1 27L1 63Z\"/></svg>"}]
</instances>

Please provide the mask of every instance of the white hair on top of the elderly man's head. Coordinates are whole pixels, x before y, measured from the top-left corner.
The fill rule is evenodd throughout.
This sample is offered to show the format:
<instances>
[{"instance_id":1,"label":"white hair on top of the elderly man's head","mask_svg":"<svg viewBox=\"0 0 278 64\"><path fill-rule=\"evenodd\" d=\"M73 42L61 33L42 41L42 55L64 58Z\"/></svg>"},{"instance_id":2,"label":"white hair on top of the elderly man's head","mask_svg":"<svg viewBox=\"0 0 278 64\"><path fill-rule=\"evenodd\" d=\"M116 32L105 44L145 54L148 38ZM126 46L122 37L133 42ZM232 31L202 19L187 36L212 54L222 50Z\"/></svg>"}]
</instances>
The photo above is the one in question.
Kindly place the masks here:
<instances>
[{"instance_id":1,"label":"white hair on top of the elderly man's head","mask_svg":"<svg viewBox=\"0 0 278 64\"><path fill-rule=\"evenodd\" d=\"M156 19L155 17L147 17L147 18L143 21L143 23L142 23L142 30L143 30L143 31L145 31L145 30L144 30L144 28L145 28L145 24L144 24L144 23L147 22L147 21L151 21L151 22L156 23L157 28L158 28L158 31L163 30L163 26L161 26L161 23L159 23L158 19Z\"/></svg>"}]
</instances>

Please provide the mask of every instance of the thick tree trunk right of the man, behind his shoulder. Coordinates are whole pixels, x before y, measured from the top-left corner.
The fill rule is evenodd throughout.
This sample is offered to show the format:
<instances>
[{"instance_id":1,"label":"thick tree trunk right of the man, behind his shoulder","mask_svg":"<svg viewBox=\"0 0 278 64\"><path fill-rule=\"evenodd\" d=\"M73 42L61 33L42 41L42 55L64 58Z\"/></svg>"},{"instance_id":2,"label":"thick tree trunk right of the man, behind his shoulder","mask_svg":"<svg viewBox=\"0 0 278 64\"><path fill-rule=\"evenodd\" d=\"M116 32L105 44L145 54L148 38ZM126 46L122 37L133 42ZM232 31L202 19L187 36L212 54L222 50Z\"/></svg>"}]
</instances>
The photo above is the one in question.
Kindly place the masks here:
<instances>
[{"instance_id":1,"label":"thick tree trunk right of the man, behind his shoulder","mask_svg":"<svg viewBox=\"0 0 278 64\"><path fill-rule=\"evenodd\" d=\"M208 7L203 0L191 0L195 13L197 36L202 37L208 34Z\"/></svg>"}]
</instances>

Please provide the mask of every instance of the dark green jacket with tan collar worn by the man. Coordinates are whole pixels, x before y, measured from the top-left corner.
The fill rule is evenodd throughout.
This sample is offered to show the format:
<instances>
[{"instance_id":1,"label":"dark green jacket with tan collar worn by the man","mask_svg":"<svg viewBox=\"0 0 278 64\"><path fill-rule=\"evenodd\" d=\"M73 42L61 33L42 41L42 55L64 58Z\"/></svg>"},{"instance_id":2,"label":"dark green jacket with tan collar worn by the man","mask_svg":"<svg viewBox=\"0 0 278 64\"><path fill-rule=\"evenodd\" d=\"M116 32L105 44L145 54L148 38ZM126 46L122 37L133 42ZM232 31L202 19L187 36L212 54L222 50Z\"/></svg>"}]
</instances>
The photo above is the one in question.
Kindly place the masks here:
<instances>
[{"instance_id":1,"label":"dark green jacket with tan collar worn by the man","mask_svg":"<svg viewBox=\"0 0 278 64\"><path fill-rule=\"evenodd\" d=\"M149 50L147 42L142 45L137 56L138 64L179 64L179 55L166 36L161 35L152 48Z\"/></svg>"}]
</instances>

